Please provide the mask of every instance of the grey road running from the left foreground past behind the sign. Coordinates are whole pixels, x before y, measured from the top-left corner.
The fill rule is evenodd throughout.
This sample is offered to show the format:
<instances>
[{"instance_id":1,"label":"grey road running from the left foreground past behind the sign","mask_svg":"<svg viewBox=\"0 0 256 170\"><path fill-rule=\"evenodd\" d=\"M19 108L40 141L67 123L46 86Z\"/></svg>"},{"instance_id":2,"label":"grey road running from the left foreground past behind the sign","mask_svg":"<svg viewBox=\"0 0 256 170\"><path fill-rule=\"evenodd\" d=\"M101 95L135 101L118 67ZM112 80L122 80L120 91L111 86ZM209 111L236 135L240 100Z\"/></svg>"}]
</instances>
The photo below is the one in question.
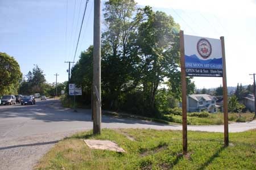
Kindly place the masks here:
<instances>
[{"instance_id":1,"label":"grey road running from the left foreground past behind the sign","mask_svg":"<svg viewBox=\"0 0 256 170\"><path fill-rule=\"evenodd\" d=\"M0 106L0 169L31 169L57 141L76 131L92 129L91 111L61 107L59 100L37 101L36 105ZM181 130L129 118L102 116L102 128L151 128ZM230 132L256 128L256 121L229 125ZM219 131L223 126L188 126L188 130Z\"/></svg>"}]
</instances>

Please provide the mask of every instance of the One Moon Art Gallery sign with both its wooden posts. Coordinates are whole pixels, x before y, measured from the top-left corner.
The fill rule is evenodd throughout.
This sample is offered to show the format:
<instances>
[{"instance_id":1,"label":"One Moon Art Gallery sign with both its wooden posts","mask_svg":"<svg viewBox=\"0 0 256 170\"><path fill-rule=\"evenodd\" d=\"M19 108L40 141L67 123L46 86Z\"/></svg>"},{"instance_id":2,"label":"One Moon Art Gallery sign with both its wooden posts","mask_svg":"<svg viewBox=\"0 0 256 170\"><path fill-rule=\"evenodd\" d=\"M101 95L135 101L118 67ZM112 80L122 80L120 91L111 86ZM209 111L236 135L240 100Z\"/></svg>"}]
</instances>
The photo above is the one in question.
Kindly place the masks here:
<instances>
[{"instance_id":1,"label":"One Moon Art Gallery sign with both its wooden posts","mask_svg":"<svg viewBox=\"0 0 256 170\"><path fill-rule=\"evenodd\" d=\"M187 154L187 85L186 76L222 77L224 109L224 143L229 145L228 88L224 37L209 39L184 35L180 31L180 66L182 86L183 155Z\"/></svg>"}]
</instances>

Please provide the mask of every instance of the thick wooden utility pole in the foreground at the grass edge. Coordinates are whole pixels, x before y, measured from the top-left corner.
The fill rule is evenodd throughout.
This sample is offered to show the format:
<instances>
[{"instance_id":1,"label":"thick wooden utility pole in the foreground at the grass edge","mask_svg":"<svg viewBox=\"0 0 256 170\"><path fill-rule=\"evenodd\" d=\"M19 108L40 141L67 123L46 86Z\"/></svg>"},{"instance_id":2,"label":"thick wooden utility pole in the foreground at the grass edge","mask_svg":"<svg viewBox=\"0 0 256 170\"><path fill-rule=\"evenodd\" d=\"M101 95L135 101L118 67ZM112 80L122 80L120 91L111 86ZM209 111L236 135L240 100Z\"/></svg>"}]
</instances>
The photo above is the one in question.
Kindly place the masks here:
<instances>
[{"instance_id":1,"label":"thick wooden utility pole in the foreground at the grass edge","mask_svg":"<svg viewBox=\"0 0 256 170\"><path fill-rule=\"evenodd\" d=\"M94 0L93 134L101 133L101 1Z\"/></svg>"}]
</instances>

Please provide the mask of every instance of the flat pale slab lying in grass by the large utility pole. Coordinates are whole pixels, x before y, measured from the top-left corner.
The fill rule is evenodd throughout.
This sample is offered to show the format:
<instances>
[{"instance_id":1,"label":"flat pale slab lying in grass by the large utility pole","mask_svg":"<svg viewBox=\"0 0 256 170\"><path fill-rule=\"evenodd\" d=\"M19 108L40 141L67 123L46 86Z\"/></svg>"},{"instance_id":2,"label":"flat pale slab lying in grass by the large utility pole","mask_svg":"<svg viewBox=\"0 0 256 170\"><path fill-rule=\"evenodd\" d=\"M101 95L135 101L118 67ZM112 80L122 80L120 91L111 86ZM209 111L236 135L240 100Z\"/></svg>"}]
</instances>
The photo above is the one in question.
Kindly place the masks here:
<instances>
[{"instance_id":1,"label":"flat pale slab lying in grass by the large utility pole","mask_svg":"<svg viewBox=\"0 0 256 170\"><path fill-rule=\"evenodd\" d=\"M101 141L94 139L85 139L84 142L88 145L89 148L96 150L109 150L115 152L125 152L123 148L119 147L117 143L112 141Z\"/></svg>"}]
</instances>

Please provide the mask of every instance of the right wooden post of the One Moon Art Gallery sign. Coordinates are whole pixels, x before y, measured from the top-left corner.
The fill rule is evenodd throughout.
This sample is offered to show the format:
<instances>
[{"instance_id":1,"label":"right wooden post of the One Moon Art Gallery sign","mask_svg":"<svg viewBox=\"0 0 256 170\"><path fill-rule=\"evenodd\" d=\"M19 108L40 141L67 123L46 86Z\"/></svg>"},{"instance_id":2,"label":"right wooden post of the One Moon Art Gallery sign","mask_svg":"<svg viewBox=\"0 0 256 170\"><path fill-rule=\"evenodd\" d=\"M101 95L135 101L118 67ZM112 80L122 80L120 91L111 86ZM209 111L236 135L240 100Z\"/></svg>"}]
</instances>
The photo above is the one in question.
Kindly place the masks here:
<instances>
[{"instance_id":1,"label":"right wooden post of the One Moon Art Gallery sign","mask_svg":"<svg viewBox=\"0 0 256 170\"><path fill-rule=\"evenodd\" d=\"M223 113L224 113L224 143L225 146L229 146L229 122L228 122L228 87L226 85L226 57L225 57L225 43L224 37L221 39L222 49L222 83L223 83Z\"/></svg>"}]
</instances>

